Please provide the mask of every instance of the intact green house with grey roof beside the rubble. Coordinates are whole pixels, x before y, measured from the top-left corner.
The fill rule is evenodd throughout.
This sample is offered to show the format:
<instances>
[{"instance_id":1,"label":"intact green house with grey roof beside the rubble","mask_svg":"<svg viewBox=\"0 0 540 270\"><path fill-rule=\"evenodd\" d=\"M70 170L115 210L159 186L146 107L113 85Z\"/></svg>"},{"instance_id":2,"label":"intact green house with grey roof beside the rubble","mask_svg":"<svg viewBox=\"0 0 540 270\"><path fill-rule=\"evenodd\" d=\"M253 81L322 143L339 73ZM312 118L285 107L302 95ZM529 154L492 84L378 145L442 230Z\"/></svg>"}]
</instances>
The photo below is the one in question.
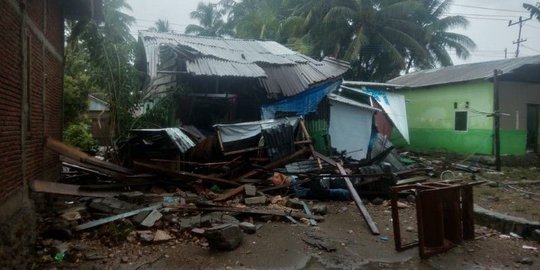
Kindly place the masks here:
<instances>
[{"instance_id":1,"label":"intact green house with grey roof beside the rubble","mask_svg":"<svg viewBox=\"0 0 540 270\"><path fill-rule=\"evenodd\" d=\"M388 83L402 86L412 150L492 154L498 99L501 154L540 151L540 55L424 70Z\"/></svg>"}]
</instances>

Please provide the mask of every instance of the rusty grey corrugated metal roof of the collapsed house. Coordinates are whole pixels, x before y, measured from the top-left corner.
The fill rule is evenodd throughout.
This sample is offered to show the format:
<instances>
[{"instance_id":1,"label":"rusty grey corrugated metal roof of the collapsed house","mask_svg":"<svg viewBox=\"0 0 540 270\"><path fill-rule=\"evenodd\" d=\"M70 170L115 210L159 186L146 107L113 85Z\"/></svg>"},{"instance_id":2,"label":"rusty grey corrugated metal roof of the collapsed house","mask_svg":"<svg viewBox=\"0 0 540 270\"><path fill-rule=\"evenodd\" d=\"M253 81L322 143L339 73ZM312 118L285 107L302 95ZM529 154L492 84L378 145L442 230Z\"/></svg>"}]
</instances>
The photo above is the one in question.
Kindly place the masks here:
<instances>
[{"instance_id":1,"label":"rusty grey corrugated metal roof of the collapsed house","mask_svg":"<svg viewBox=\"0 0 540 270\"><path fill-rule=\"evenodd\" d=\"M140 31L139 39L146 52L148 73L153 79L160 77L158 66L164 47L183 55L179 60L184 61L188 73L196 76L260 78L261 85L268 93L284 96L298 94L312 84L337 78L350 68L349 63L332 58L316 61L274 41L149 31Z\"/></svg>"}]
</instances>

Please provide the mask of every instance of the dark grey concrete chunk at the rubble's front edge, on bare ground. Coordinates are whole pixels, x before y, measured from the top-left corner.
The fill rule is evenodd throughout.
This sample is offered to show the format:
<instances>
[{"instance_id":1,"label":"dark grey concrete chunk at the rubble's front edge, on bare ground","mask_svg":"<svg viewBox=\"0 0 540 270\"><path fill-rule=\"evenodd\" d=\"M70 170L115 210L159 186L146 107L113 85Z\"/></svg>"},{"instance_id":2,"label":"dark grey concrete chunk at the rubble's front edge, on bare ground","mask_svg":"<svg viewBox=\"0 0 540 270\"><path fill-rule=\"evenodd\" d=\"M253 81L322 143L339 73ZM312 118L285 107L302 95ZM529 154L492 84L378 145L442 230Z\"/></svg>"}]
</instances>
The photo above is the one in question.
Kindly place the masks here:
<instances>
[{"instance_id":1,"label":"dark grey concrete chunk at the rubble's front edge, on bare ground","mask_svg":"<svg viewBox=\"0 0 540 270\"><path fill-rule=\"evenodd\" d=\"M214 226L207 229L204 236L210 248L216 250L234 250L242 243L242 231L233 224Z\"/></svg>"}]
</instances>

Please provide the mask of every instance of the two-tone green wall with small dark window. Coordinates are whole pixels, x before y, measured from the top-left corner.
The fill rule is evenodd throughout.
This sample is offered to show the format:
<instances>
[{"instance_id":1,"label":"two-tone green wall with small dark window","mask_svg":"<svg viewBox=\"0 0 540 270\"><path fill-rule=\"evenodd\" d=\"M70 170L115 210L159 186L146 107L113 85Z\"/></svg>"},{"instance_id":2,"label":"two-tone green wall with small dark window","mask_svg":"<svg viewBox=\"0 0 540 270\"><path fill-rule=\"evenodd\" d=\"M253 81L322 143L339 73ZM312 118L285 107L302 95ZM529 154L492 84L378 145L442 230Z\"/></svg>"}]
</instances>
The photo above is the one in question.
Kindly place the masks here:
<instances>
[{"instance_id":1,"label":"two-tone green wall with small dark window","mask_svg":"<svg viewBox=\"0 0 540 270\"><path fill-rule=\"evenodd\" d=\"M493 110L493 85L490 82L478 80L400 93L407 100L410 133L407 148L491 154L493 119L479 113ZM454 108L454 102L457 108ZM469 109L466 102L469 102ZM469 112L467 131L454 130L455 111ZM504 136L510 138L513 135ZM404 140L395 142L403 145Z\"/></svg>"}]
</instances>

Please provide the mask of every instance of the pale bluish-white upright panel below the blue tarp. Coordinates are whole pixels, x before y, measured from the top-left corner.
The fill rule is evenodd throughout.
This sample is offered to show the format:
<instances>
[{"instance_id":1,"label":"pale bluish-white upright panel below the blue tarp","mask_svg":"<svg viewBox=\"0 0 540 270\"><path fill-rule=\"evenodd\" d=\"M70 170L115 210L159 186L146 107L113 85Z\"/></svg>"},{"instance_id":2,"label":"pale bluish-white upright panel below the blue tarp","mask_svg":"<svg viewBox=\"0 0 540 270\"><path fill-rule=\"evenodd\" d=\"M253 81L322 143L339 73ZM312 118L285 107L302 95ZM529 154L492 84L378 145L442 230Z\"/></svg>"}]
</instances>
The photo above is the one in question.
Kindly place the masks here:
<instances>
[{"instance_id":1,"label":"pale bluish-white upright panel below the blue tarp","mask_svg":"<svg viewBox=\"0 0 540 270\"><path fill-rule=\"evenodd\" d=\"M332 147L353 159L365 159L376 109L339 96L329 95L329 99Z\"/></svg>"}]
</instances>

